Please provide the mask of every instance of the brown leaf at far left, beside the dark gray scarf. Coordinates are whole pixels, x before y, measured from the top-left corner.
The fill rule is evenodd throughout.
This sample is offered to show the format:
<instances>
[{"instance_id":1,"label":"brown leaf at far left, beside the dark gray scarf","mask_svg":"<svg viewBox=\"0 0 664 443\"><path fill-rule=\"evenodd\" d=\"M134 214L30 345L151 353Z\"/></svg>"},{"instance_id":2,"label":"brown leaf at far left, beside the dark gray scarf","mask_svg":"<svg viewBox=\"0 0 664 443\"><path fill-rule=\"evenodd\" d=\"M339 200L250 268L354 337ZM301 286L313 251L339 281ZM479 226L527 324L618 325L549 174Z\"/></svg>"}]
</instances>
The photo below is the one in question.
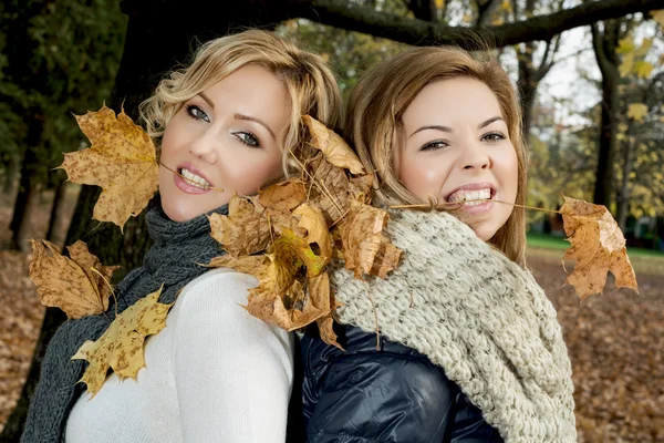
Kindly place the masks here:
<instances>
[{"instance_id":1,"label":"brown leaf at far left, beside the dark gray scarf","mask_svg":"<svg viewBox=\"0 0 664 443\"><path fill-rule=\"evenodd\" d=\"M60 308L71 319L108 309L108 280L118 266L103 266L81 240L68 247L70 258L50 241L31 239L30 244L30 279L42 305Z\"/></svg>"}]
</instances>

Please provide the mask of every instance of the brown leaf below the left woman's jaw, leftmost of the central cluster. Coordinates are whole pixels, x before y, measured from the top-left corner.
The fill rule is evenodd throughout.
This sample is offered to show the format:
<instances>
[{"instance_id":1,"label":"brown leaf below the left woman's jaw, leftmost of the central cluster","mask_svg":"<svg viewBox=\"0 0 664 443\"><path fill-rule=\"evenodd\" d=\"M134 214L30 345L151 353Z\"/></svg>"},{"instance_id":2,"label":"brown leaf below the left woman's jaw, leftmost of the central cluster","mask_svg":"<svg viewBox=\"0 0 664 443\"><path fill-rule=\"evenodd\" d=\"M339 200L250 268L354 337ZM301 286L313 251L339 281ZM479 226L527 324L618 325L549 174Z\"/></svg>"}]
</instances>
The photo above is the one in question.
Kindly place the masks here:
<instances>
[{"instance_id":1,"label":"brown leaf below the left woman's jaw, leftmost of the central cluster","mask_svg":"<svg viewBox=\"0 0 664 443\"><path fill-rule=\"evenodd\" d=\"M270 222L261 216L251 202L234 196L228 204L228 216L212 214L211 236L234 257L264 250L271 239Z\"/></svg>"}]
</instances>

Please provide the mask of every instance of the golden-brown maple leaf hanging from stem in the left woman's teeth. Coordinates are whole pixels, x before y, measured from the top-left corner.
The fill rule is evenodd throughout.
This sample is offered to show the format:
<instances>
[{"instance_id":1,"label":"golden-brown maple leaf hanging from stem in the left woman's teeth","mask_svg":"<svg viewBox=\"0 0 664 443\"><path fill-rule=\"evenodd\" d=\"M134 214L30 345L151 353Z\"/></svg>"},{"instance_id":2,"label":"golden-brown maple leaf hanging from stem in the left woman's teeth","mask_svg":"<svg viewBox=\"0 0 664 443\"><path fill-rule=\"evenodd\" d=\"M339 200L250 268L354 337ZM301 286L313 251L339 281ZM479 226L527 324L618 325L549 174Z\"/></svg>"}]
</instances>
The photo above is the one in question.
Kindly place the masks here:
<instances>
[{"instance_id":1,"label":"golden-brown maple leaf hanging from stem in the left woman's teeth","mask_svg":"<svg viewBox=\"0 0 664 443\"><path fill-rule=\"evenodd\" d=\"M90 148L64 154L60 168L71 182L102 187L93 218L113 222L121 230L141 214L157 190L157 157L149 136L124 111L104 106L76 116Z\"/></svg>"}]
</instances>

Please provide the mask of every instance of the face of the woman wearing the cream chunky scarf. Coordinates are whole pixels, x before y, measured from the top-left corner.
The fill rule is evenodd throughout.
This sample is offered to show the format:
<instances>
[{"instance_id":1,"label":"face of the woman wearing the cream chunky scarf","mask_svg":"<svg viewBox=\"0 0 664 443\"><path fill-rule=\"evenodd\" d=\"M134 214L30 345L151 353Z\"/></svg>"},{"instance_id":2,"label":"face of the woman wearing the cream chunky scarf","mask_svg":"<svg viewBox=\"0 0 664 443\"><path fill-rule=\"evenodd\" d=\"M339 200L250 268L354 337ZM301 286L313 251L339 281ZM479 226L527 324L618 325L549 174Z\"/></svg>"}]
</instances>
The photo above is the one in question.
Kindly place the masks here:
<instances>
[{"instance_id":1,"label":"face of the woman wearing the cream chunky scarf","mask_svg":"<svg viewBox=\"0 0 664 443\"><path fill-rule=\"evenodd\" d=\"M438 202L515 203L518 161L496 95L460 76L426 85L403 115L394 167L417 197ZM463 204L457 215L483 240L505 225L512 206Z\"/></svg>"}]
</instances>

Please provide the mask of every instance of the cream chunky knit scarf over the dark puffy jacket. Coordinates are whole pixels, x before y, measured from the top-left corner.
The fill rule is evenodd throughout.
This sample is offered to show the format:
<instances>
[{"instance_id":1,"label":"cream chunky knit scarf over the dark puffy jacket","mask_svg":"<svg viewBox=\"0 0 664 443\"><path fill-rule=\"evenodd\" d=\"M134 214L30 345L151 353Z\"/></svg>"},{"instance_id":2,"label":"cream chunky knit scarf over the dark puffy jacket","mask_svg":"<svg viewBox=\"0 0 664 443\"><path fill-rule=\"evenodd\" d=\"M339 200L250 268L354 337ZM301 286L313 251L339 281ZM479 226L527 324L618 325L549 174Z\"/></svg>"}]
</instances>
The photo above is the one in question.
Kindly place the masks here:
<instances>
[{"instance_id":1,"label":"cream chunky knit scarf over the dark puffy jacket","mask_svg":"<svg viewBox=\"0 0 664 443\"><path fill-rule=\"evenodd\" d=\"M448 214L391 217L404 258L386 280L335 271L340 322L373 332L377 313L383 334L442 367L507 442L575 442L570 360L530 272Z\"/></svg>"}]
</instances>

